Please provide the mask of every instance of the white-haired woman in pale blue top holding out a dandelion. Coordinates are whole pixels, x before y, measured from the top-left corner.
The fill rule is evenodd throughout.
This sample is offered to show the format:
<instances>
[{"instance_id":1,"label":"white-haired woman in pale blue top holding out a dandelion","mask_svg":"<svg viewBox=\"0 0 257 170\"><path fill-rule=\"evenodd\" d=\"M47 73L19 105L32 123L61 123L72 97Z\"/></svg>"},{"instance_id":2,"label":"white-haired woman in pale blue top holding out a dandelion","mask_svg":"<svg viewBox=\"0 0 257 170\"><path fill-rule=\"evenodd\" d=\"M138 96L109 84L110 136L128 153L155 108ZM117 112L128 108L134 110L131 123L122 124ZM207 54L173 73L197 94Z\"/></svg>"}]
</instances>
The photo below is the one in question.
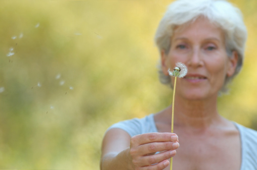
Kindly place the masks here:
<instances>
[{"instance_id":1,"label":"white-haired woman in pale blue top holding out a dandelion","mask_svg":"<svg viewBox=\"0 0 257 170\"><path fill-rule=\"evenodd\" d=\"M184 63L172 107L111 126L103 139L101 169L257 169L257 132L221 117L217 98L242 66L246 28L226 1L178 0L155 35L160 80L173 85L168 69ZM179 138L179 139L178 139Z\"/></svg>"}]
</instances>

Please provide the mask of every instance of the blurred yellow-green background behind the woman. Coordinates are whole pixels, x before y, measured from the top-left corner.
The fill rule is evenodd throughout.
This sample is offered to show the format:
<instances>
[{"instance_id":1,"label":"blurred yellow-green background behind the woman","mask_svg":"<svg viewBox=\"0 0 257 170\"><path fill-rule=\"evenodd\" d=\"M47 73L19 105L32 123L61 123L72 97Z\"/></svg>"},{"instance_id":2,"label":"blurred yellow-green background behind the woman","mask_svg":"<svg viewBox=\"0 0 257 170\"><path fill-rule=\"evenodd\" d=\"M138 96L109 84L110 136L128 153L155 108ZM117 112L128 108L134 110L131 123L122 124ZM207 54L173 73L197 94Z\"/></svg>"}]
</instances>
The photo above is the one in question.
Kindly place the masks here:
<instances>
[{"instance_id":1,"label":"blurred yellow-green background behind the woman","mask_svg":"<svg viewBox=\"0 0 257 170\"><path fill-rule=\"evenodd\" d=\"M0 1L0 169L99 169L105 130L172 101L157 25L171 1ZM231 1L249 38L224 117L257 129L257 1Z\"/></svg>"}]
</instances>

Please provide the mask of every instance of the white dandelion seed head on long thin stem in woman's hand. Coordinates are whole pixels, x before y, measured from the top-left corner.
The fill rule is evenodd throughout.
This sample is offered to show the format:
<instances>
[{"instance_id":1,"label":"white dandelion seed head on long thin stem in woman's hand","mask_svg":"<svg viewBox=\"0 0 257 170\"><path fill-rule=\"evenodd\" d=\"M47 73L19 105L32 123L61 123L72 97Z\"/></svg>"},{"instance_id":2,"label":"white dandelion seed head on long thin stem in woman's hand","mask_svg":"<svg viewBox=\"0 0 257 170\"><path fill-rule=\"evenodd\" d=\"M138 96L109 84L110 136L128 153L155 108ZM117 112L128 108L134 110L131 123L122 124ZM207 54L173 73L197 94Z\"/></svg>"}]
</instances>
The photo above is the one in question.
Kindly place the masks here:
<instances>
[{"instance_id":1,"label":"white dandelion seed head on long thin stem in woman's hand","mask_svg":"<svg viewBox=\"0 0 257 170\"><path fill-rule=\"evenodd\" d=\"M179 78L185 77L187 74L187 67L183 63L177 63L176 67L173 69L173 71L170 71L170 69L168 69L168 74L170 76L175 77L174 89L173 89L173 100L172 100L172 133L173 133L174 103L175 103L175 91L176 91L177 77L179 77ZM173 162L173 157L170 158L170 170L172 170L172 162Z\"/></svg>"}]
</instances>

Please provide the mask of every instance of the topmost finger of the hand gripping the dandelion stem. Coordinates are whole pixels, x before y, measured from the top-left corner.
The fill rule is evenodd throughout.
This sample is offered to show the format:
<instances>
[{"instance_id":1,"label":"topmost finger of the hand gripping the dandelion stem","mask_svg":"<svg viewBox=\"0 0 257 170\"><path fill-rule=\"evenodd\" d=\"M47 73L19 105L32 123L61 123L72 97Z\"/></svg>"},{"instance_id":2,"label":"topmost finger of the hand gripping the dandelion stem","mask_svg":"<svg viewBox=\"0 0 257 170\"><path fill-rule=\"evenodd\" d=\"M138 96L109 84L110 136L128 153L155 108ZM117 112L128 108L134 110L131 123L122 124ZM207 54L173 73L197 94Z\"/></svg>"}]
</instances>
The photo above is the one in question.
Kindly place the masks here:
<instances>
[{"instance_id":1,"label":"topmost finger of the hand gripping the dandelion stem","mask_svg":"<svg viewBox=\"0 0 257 170\"><path fill-rule=\"evenodd\" d=\"M172 139L172 136L175 138ZM131 143L142 145L151 142L169 142L178 141L178 136L175 133L145 133L136 135L131 138Z\"/></svg>"}]
</instances>

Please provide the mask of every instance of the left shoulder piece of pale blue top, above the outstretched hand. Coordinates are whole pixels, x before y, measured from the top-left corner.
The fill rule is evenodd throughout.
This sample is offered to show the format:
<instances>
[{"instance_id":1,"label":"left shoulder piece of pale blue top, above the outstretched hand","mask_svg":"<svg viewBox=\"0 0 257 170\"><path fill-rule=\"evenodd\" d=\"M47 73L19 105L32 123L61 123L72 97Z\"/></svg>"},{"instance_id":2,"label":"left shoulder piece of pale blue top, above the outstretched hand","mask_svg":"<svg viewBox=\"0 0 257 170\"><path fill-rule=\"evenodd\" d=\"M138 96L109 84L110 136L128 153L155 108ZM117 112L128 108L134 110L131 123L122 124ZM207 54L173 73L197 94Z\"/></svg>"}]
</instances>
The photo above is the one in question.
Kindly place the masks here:
<instances>
[{"instance_id":1,"label":"left shoulder piece of pale blue top, above the outstretched hand","mask_svg":"<svg viewBox=\"0 0 257 170\"><path fill-rule=\"evenodd\" d=\"M130 120L121 121L110 126L108 130L119 128L127 132L131 137L139 134L157 132L153 114L144 118L134 118Z\"/></svg>"}]
</instances>

